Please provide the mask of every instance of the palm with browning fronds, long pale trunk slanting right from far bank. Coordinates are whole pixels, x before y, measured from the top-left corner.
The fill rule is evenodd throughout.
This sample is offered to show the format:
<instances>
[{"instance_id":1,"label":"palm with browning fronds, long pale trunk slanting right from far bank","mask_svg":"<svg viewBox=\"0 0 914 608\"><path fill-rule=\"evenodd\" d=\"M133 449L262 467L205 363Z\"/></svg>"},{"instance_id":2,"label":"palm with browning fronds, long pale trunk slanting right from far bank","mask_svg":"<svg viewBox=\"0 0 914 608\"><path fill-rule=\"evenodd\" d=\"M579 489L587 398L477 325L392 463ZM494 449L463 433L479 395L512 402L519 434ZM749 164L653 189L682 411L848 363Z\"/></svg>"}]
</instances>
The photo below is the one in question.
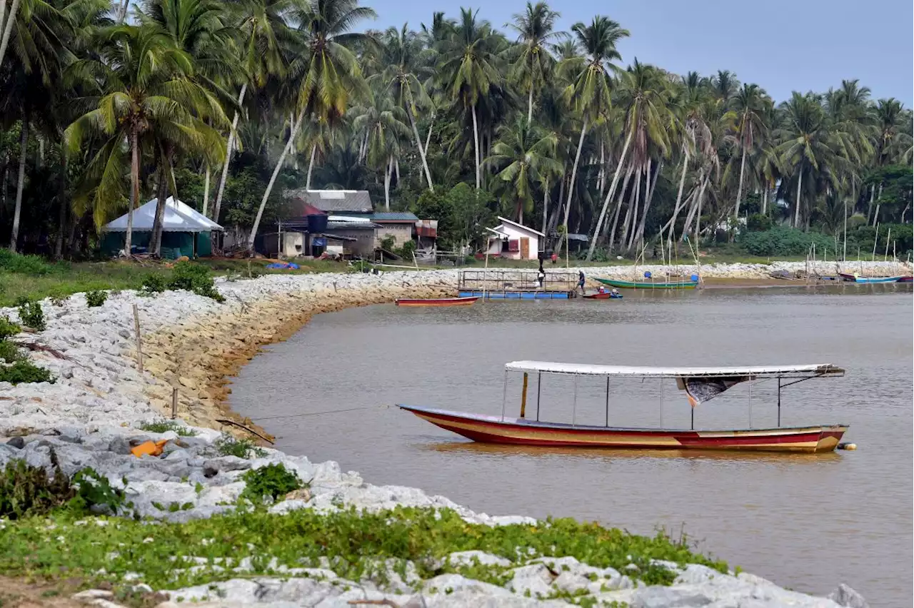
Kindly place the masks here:
<instances>
[{"instance_id":1,"label":"palm with browning fronds, long pale trunk slanting right from far bank","mask_svg":"<svg viewBox=\"0 0 914 608\"><path fill-rule=\"evenodd\" d=\"M624 111L625 143L622 146L610 190L603 199L600 219L597 221L593 237L590 239L590 249L587 252L588 261L593 257L593 251L597 246L597 236L600 235L600 228L606 217L606 210L609 208L612 195L615 194L622 166L628 161L627 156L630 151L632 167L636 172L640 172L650 158L649 146L653 145L662 156L669 151L670 142L666 131L670 121L667 83L668 81L660 70L654 66L644 65L637 59L632 67L622 72L620 76L618 103ZM645 213L646 210L645 204Z\"/></svg>"}]
</instances>

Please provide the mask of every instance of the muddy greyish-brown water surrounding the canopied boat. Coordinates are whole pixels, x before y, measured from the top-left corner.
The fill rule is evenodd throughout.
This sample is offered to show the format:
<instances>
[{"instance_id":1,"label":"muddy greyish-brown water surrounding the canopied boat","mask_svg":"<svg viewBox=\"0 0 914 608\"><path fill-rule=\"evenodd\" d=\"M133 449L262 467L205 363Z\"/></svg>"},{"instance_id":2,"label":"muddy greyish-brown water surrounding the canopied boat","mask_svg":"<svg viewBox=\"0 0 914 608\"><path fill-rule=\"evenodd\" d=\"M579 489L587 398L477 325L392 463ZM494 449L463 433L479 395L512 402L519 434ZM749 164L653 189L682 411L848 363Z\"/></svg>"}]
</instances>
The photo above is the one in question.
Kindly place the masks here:
<instances>
[{"instance_id":1,"label":"muddy greyish-brown water surrounding the canopied boat","mask_svg":"<svg viewBox=\"0 0 914 608\"><path fill-rule=\"evenodd\" d=\"M622 300L393 305L318 315L255 358L230 402L282 450L333 459L374 484L420 487L490 514L685 529L731 567L803 592L846 582L874 606L907 606L914 562L911 436L914 292L906 286L626 292ZM389 404L501 414L504 364L832 362L845 378L784 389L784 425L844 423L856 452L751 455L483 446ZM602 424L605 381L544 376L539 415ZM507 387L516 415L520 376ZM751 389L776 425L777 385ZM529 415L536 415L531 378ZM577 394L577 405L574 397ZM662 404L662 406L661 406ZM302 416L339 409L337 414ZM611 381L613 425L688 427L674 381ZM274 416L295 416L274 418ZM695 412L696 428L749 425L749 390Z\"/></svg>"}]
</instances>

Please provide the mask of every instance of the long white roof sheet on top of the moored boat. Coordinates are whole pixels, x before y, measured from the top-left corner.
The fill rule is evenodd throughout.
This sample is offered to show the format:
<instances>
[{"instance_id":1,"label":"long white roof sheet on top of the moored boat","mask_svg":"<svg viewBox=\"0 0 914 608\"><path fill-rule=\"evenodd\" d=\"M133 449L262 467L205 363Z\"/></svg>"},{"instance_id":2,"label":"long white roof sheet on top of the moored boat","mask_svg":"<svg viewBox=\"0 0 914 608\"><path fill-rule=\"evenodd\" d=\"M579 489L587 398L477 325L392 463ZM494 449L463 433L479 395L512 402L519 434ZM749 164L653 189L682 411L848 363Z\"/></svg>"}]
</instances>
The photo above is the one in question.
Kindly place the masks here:
<instances>
[{"instance_id":1,"label":"long white roof sheet on top of the moored boat","mask_svg":"<svg viewBox=\"0 0 914 608\"><path fill-rule=\"evenodd\" d=\"M508 372L570 373L584 376L637 376L654 378L721 378L721 377L788 377L843 376L845 371L831 363L807 365L764 365L757 367L629 367L626 365L592 365L590 363L557 363L515 361L505 363Z\"/></svg>"}]
</instances>

